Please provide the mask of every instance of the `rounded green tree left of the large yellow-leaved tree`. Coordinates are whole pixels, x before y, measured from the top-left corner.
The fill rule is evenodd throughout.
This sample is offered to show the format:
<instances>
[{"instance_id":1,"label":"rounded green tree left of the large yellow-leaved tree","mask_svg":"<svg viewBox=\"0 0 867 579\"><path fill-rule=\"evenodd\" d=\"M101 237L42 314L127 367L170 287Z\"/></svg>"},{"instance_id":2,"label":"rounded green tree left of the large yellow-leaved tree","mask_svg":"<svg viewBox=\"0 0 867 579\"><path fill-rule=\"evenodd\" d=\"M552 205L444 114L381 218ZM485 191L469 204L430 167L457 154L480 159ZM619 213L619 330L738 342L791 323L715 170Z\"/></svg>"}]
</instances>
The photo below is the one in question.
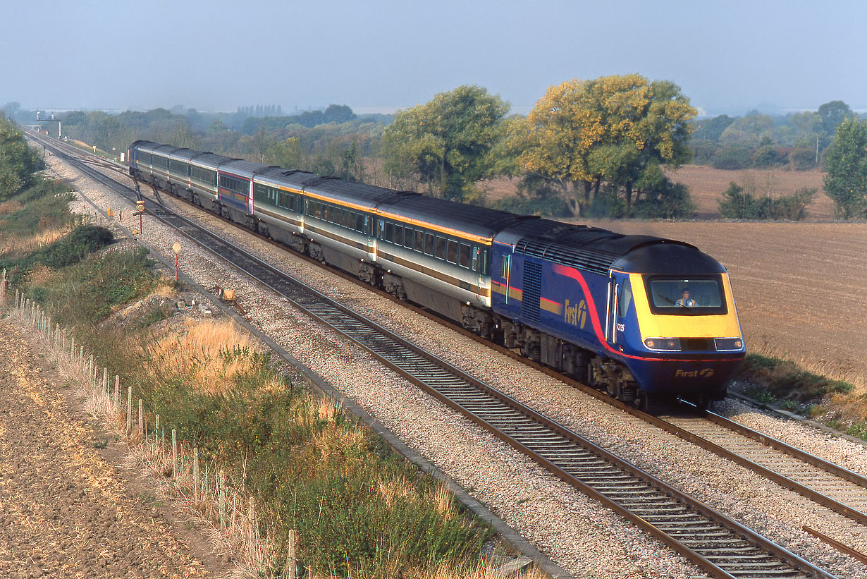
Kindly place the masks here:
<instances>
[{"instance_id":1,"label":"rounded green tree left of the large yellow-leaved tree","mask_svg":"<svg viewBox=\"0 0 867 579\"><path fill-rule=\"evenodd\" d=\"M427 104L398 111L382 135L387 168L411 168L430 193L460 201L491 176L490 152L504 135L509 105L479 86L440 93Z\"/></svg>"}]
</instances>

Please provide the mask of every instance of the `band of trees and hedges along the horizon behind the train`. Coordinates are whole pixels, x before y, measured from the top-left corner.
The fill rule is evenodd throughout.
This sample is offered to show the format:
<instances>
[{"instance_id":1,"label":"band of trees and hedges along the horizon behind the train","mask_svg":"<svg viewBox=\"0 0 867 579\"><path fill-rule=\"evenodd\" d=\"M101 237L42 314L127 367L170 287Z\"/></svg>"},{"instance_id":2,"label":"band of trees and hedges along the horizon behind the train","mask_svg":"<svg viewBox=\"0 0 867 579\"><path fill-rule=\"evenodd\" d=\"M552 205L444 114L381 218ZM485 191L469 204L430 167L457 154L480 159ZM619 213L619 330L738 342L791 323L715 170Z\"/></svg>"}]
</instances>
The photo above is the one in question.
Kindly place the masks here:
<instances>
[{"instance_id":1,"label":"band of trees and hedges along the horizon behind the train","mask_svg":"<svg viewBox=\"0 0 867 579\"><path fill-rule=\"evenodd\" d=\"M479 182L505 176L517 181L518 195L492 207L667 219L690 216L694 204L688 188L670 181L664 169L699 161L702 143L760 145L749 149L755 163L772 156L764 148L773 146L762 144L769 139L788 135L804 144L818 135L828 169L825 191L838 216L860 218L865 211L867 135L839 101L789 115L791 130L758 114L697 120L675 83L625 75L552 86L529 115L508 115L509 104L479 86L440 93L393 116L355 115L346 105L289 116L248 112L73 111L63 122L69 135L101 148L125 150L136 139L169 142L477 204L486 202ZM741 219L800 219L815 195L799 191L778 201L736 188L720 193L720 212Z\"/></svg>"}]
</instances>

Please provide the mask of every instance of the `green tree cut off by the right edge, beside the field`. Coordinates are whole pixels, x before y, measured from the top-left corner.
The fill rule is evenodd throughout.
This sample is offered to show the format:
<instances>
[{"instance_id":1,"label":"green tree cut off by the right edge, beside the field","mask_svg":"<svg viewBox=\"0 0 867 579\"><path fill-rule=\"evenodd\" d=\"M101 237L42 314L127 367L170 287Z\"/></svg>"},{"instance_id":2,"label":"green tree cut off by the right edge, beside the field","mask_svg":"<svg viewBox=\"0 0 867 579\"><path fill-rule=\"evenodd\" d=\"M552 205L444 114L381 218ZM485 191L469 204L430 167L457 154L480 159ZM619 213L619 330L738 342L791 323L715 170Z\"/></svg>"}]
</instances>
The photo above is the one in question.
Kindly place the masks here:
<instances>
[{"instance_id":1,"label":"green tree cut off by the right edge, beside the field","mask_svg":"<svg viewBox=\"0 0 867 579\"><path fill-rule=\"evenodd\" d=\"M825 159L825 194L837 216L867 216L867 126L852 117L841 122Z\"/></svg>"}]
</instances>

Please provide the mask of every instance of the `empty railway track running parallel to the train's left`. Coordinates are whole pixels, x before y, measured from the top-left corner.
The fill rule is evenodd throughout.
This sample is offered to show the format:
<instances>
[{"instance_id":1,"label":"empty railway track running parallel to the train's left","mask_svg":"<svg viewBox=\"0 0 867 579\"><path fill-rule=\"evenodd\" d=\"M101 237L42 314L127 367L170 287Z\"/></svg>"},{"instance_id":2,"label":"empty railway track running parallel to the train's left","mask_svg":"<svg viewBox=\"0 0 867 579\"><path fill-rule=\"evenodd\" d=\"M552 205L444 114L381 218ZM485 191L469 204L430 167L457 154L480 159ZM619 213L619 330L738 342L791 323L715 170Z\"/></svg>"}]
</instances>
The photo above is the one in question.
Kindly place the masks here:
<instances>
[{"instance_id":1,"label":"empty railway track running parallel to the train's left","mask_svg":"<svg viewBox=\"0 0 867 579\"><path fill-rule=\"evenodd\" d=\"M54 148L54 143L46 146ZM134 200L135 192L55 148L57 155ZM76 151L76 153L78 153ZM831 577L727 516L695 501L609 451L556 424L460 369L424 352L322 293L167 207L154 217L281 293L312 317L371 352L395 372L463 413L557 477L609 506L716 577Z\"/></svg>"}]
</instances>

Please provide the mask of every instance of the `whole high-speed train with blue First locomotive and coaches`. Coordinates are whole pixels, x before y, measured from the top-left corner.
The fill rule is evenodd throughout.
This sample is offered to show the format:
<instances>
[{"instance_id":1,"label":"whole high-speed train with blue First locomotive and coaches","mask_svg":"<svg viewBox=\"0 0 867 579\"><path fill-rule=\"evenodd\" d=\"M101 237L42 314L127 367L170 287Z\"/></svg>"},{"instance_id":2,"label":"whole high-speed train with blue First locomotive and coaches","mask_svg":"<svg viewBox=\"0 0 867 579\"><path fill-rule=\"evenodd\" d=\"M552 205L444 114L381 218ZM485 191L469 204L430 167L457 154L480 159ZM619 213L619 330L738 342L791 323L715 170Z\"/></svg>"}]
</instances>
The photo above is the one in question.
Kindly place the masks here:
<instances>
[{"instance_id":1,"label":"whole high-speed train with blue First locomotive and coaches","mask_svg":"<svg viewBox=\"0 0 867 579\"><path fill-rule=\"evenodd\" d=\"M624 402L726 395L746 355L725 267L622 235L135 141L129 174Z\"/></svg>"}]
</instances>

